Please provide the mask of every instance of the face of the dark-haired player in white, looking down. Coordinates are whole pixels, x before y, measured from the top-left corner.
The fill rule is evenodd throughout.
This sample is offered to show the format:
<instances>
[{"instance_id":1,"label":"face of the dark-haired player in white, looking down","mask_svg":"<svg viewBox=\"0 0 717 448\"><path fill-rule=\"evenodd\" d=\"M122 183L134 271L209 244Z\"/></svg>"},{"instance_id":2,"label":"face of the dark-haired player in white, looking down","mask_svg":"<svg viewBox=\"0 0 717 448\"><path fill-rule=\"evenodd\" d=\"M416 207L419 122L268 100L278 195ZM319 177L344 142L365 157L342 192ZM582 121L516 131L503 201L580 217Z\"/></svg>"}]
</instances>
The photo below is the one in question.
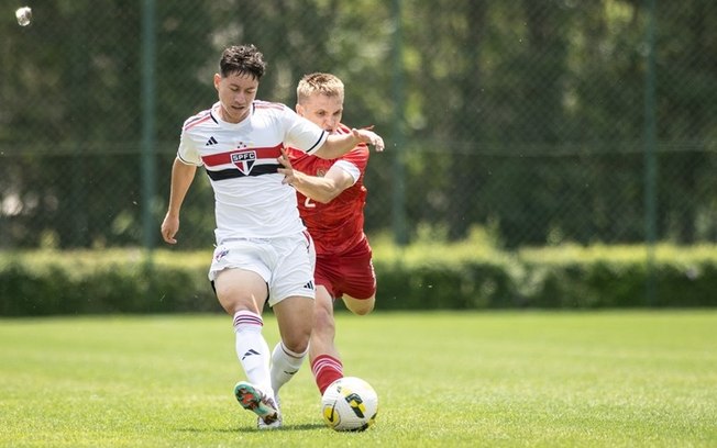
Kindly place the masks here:
<instances>
[{"instance_id":1,"label":"face of the dark-haired player in white, looking down","mask_svg":"<svg viewBox=\"0 0 717 448\"><path fill-rule=\"evenodd\" d=\"M239 123L249 116L258 80L251 75L231 74L225 78L214 75L214 88L219 93L222 120Z\"/></svg>"}]
</instances>

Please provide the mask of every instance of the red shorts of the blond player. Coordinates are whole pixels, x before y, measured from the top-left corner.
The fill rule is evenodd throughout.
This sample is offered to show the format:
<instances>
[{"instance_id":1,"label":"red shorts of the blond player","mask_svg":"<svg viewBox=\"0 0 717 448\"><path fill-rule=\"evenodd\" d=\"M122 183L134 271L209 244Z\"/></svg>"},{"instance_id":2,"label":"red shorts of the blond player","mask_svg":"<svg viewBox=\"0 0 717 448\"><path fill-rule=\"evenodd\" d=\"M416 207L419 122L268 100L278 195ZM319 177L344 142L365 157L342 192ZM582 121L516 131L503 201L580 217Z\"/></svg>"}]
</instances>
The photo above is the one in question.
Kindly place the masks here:
<instances>
[{"instance_id":1,"label":"red shorts of the blond player","mask_svg":"<svg viewBox=\"0 0 717 448\"><path fill-rule=\"evenodd\" d=\"M316 284L324 287L334 299L344 293L358 300L369 299L376 293L371 257L371 246L365 238L343 254L317 254Z\"/></svg>"}]
</instances>

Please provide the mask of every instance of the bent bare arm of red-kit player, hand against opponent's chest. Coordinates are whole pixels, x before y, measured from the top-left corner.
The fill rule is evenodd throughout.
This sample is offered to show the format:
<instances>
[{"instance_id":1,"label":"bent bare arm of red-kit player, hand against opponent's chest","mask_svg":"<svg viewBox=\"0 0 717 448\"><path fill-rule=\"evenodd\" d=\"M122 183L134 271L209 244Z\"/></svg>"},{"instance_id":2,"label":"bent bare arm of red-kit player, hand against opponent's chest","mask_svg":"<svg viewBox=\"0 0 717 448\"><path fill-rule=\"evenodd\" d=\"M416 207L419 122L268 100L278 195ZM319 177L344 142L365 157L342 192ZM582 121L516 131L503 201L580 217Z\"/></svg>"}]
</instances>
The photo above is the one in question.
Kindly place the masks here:
<instances>
[{"instance_id":1,"label":"bent bare arm of red-kit player, hand against opponent's chest","mask_svg":"<svg viewBox=\"0 0 717 448\"><path fill-rule=\"evenodd\" d=\"M283 183L293 186L305 197L322 204L331 202L343 190L355 183L353 176L335 165L323 177L318 177L294 169L284 152L279 163L284 166L278 169L278 172L284 175Z\"/></svg>"}]
</instances>

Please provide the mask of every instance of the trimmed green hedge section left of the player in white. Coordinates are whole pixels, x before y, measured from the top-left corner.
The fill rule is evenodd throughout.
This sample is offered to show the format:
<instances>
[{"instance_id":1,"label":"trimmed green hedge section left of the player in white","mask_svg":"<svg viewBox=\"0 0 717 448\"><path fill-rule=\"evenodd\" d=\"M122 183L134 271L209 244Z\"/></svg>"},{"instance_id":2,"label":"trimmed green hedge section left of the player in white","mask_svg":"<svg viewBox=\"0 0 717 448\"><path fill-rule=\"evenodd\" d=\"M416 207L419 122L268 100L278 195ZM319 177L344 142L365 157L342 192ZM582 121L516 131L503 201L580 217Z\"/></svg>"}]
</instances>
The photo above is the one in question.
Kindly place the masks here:
<instances>
[{"instance_id":1,"label":"trimmed green hedge section left of the player in white","mask_svg":"<svg viewBox=\"0 0 717 448\"><path fill-rule=\"evenodd\" d=\"M220 311L211 254L0 253L0 315Z\"/></svg>"}]
</instances>

